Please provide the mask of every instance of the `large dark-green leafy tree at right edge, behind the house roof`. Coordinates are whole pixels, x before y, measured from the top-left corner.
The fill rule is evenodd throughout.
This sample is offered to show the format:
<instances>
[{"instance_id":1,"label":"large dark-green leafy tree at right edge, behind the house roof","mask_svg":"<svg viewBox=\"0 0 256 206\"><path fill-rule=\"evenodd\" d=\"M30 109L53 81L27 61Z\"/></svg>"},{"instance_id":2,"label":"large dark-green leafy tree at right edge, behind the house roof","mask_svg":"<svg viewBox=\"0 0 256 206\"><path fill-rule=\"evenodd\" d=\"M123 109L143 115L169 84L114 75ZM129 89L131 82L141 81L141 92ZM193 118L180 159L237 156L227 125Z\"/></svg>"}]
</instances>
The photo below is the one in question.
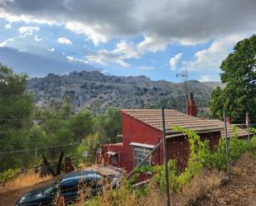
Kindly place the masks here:
<instances>
[{"instance_id":1,"label":"large dark-green leafy tree at right edge, behind the house roof","mask_svg":"<svg viewBox=\"0 0 256 206\"><path fill-rule=\"evenodd\" d=\"M227 115L236 118L245 113L256 114L256 36L239 41L234 52L220 65L220 79L225 89L214 92L210 108L220 116L224 108ZM217 97L220 95L220 97ZM223 100L223 101L222 101Z\"/></svg>"}]
</instances>

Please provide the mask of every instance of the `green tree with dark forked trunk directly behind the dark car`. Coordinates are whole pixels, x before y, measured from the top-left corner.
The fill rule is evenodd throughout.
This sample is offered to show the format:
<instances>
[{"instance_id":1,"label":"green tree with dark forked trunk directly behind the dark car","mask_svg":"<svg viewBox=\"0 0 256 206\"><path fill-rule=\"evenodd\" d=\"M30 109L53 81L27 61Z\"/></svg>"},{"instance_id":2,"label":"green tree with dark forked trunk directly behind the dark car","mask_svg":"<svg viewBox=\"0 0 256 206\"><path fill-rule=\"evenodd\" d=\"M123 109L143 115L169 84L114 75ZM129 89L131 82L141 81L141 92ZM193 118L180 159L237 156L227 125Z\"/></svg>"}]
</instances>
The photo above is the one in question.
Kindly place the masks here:
<instances>
[{"instance_id":1,"label":"green tree with dark forked trunk directly behind the dark car","mask_svg":"<svg viewBox=\"0 0 256 206\"><path fill-rule=\"evenodd\" d=\"M40 154L51 175L60 174L65 154L78 146L72 145L75 143L74 132L70 129L72 117L73 109L69 98L65 99L58 110L41 108L36 112L36 118L40 119L38 122L40 128L34 127L34 131L31 132L31 144L46 147L46 150L41 150Z\"/></svg>"}]
</instances>

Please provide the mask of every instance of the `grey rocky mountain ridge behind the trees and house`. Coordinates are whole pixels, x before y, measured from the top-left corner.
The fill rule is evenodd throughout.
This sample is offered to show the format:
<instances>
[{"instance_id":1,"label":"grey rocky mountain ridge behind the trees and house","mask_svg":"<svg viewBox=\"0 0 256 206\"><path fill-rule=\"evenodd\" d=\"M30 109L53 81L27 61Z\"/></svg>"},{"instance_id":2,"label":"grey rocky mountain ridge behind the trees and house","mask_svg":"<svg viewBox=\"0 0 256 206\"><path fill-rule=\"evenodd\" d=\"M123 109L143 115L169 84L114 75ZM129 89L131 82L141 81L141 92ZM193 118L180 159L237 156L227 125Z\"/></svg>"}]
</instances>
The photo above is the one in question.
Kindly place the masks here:
<instances>
[{"instance_id":1,"label":"grey rocky mountain ridge behind the trees and house","mask_svg":"<svg viewBox=\"0 0 256 206\"><path fill-rule=\"evenodd\" d=\"M188 82L199 108L208 107L213 87L197 80ZM184 83L166 80L152 81L146 76L118 77L99 71L72 72L65 75L48 74L28 81L27 92L34 93L38 105L61 102L69 95L75 108L93 108L103 112L107 108L167 108L186 110Z\"/></svg>"}]
</instances>

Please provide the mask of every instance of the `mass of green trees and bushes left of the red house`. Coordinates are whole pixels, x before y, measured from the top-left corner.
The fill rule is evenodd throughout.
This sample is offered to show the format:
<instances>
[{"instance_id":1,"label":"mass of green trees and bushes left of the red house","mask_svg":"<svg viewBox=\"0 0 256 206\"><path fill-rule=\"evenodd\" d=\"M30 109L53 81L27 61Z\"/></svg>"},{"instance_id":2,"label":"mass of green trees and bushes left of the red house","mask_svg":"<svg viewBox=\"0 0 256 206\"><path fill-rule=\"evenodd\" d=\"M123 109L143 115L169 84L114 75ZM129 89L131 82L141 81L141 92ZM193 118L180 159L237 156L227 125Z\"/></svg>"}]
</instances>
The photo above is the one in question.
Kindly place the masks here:
<instances>
[{"instance_id":1,"label":"mass of green trees and bushes left of the red house","mask_svg":"<svg viewBox=\"0 0 256 206\"><path fill-rule=\"evenodd\" d=\"M43 174L59 175L65 156L79 164L84 151L94 156L122 130L118 109L99 116L87 109L75 113L68 95L63 103L37 108L26 87L27 75L0 65L0 173L43 163Z\"/></svg>"}]
</instances>

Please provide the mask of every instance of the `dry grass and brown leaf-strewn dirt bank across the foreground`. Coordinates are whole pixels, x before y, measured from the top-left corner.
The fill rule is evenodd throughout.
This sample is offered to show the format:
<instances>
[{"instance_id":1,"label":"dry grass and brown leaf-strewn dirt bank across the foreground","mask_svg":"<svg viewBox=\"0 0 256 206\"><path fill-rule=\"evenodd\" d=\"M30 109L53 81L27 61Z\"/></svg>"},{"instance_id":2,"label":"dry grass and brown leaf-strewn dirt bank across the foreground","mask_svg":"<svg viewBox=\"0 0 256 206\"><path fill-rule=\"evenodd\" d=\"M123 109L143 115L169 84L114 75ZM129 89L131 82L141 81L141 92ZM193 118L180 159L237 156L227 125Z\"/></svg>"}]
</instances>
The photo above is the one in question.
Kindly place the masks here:
<instances>
[{"instance_id":1,"label":"dry grass and brown leaf-strewn dirt bank across the foreground","mask_svg":"<svg viewBox=\"0 0 256 206\"><path fill-rule=\"evenodd\" d=\"M218 170L202 170L176 194L171 194L173 206L236 205L253 206L256 203L256 156L244 154L232 166L231 180ZM118 190L106 190L103 195L79 205L89 206L157 206L165 205L166 197L157 185L151 185L147 194L125 185Z\"/></svg>"}]
</instances>

